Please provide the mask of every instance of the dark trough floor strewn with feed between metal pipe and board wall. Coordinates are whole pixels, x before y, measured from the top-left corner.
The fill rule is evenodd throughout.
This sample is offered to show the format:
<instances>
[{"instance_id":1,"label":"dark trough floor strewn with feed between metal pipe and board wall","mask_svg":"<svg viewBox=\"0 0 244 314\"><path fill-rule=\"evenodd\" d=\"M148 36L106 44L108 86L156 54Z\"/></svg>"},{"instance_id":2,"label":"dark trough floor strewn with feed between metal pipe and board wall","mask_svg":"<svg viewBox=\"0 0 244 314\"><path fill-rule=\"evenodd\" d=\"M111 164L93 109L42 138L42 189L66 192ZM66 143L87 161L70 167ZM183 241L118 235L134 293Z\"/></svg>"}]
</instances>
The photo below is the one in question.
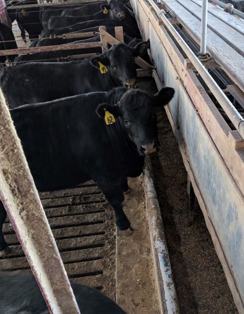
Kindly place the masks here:
<instances>
[{"instance_id":1,"label":"dark trough floor strewn with feed between metal pipe and board wall","mask_svg":"<svg viewBox=\"0 0 244 314\"><path fill-rule=\"evenodd\" d=\"M236 314L237 309L200 207L187 224L187 173L165 111L158 113L161 150L152 159L181 314Z\"/></svg>"}]
</instances>

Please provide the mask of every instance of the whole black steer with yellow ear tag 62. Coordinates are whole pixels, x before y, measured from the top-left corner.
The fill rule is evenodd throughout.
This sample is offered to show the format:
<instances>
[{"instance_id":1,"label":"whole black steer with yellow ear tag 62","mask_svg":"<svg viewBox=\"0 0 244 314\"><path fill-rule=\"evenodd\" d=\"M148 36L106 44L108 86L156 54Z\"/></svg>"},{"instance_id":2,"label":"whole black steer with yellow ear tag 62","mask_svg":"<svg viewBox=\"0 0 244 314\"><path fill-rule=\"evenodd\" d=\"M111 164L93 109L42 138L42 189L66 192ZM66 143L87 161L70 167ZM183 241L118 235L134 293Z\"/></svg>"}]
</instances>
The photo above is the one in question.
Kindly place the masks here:
<instances>
[{"instance_id":1,"label":"whole black steer with yellow ear tag 62","mask_svg":"<svg viewBox=\"0 0 244 314\"><path fill-rule=\"evenodd\" d=\"M117 88L10 110L39 191L67 188L93 179L115 210L121 230L130 227L123 212L127 177L142 173L144 156L156 152L155 107L174 95ZM6 212L0 203L0 250Z\"/></svg>"}]
</instances>

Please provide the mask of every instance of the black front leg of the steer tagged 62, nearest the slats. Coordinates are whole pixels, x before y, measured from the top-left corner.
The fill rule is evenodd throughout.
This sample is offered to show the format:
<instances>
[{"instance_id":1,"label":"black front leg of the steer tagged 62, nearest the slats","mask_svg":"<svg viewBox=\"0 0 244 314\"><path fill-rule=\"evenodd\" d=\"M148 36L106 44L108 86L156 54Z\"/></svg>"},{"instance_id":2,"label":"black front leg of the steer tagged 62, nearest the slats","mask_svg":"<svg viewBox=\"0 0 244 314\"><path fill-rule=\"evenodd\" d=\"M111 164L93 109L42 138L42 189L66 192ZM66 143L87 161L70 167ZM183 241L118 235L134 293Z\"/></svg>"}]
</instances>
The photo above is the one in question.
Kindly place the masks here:
<instances>
[{"instance_id":1,"label":"black front leg of the steer tagged 62, nearest the slats","mask_svg":"<svg viewBox=\"0 0 244 314\"><path fill-rule=\"evenodd\" d=\"M104 179L97 180L97 183L109 204L114 208L115 222L119 229L128 229L130 227L130 222L123 211L122 202L124 200L124 196L120 184L114 184L113 182Z\"/></svg>"}]
</instances>

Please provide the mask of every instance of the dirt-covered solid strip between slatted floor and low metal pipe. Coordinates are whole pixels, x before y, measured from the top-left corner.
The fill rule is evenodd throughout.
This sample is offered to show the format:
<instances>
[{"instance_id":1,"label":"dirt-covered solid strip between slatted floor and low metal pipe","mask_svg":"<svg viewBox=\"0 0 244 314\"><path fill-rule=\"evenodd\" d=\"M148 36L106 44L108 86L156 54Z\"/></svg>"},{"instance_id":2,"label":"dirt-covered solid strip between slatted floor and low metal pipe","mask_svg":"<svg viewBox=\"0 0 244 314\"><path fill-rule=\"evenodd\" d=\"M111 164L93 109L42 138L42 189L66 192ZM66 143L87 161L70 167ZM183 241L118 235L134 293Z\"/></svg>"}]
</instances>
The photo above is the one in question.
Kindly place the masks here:
<instances>
[{"instance_id":1,"label":"dirt-covered solid strip between slatted floor and low metal pipe","mask_svg":"<svg viewBox=\"0 0 244 314\"><path fill-rule=\"evenodd\" d=\"M127 314L160 314L142 176L128 184L132 190L123 208L134 233L117 228L116 301Z\"/></svg>"}]
</instances>

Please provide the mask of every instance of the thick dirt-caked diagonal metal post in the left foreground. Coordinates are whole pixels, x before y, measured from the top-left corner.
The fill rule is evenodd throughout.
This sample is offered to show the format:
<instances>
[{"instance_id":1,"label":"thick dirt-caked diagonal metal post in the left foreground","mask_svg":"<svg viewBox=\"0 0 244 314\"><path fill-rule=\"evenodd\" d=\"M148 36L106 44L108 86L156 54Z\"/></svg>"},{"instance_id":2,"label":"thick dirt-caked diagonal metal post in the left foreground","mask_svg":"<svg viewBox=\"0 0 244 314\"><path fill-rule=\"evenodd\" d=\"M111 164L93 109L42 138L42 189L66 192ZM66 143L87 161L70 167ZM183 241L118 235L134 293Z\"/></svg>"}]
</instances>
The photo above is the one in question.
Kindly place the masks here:
<instances>
[{"instance_id":1,"label":"thick dirt-caked diagonal metal post in the left foreground","mask_svg":"<svg viewBox=\"0 0 244 314\"><path fill-rule=\"evenodd\" d=\"M0 91L0 200L51 314L80 314L20 139Z\"/></svg>"}]
</instances>

